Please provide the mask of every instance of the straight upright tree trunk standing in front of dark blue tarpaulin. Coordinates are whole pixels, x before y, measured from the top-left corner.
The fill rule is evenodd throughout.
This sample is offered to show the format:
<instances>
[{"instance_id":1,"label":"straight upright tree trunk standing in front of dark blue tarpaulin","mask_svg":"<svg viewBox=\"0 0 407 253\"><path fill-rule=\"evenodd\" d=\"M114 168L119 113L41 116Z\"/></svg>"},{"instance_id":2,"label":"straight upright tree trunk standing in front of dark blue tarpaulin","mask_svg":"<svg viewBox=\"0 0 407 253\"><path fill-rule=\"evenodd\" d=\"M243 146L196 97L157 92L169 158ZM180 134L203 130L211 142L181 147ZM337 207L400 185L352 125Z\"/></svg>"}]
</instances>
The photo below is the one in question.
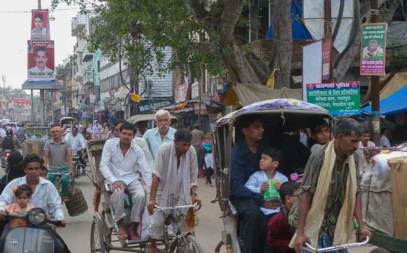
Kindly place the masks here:
<instances>
[{"instance_id":1,"label":"straight upright tree trunk standing in front of dark blue tarpaulin","mask_svg":"<svg viewBox=\"0 0 407 253\"><path fill-rule=\"evenodd\" d=\"M291 1L273 2L273 59L270 66L276 71L274 76L274 88L289 88L291 74L291 58L293 55L293 31L290 16Z\"/></svg>"}]
</instances>

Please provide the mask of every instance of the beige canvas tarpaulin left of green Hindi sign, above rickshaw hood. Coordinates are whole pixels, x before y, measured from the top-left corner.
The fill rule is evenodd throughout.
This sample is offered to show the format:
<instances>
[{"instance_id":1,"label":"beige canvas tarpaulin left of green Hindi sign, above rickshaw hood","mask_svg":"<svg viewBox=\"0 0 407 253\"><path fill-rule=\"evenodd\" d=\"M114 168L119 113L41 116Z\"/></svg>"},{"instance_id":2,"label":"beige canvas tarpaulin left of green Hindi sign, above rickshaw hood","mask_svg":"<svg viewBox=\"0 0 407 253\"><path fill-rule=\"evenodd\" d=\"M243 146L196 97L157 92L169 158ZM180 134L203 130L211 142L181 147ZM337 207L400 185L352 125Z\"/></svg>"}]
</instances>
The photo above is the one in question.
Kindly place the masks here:
<instances>
[{"instance_id":1,"label":"beige canvas tarpaulin left of green Hindi sign, above rickshaw hood","mask_svg":"<svg viewBox=\"0 0 407 253\"><path fill-rule=\"evenodd\" d=\"M233 89L242 106L270 99L302 100L302 89L269 89L259 83L237 83Z\"/></svg>"}]
</instances>

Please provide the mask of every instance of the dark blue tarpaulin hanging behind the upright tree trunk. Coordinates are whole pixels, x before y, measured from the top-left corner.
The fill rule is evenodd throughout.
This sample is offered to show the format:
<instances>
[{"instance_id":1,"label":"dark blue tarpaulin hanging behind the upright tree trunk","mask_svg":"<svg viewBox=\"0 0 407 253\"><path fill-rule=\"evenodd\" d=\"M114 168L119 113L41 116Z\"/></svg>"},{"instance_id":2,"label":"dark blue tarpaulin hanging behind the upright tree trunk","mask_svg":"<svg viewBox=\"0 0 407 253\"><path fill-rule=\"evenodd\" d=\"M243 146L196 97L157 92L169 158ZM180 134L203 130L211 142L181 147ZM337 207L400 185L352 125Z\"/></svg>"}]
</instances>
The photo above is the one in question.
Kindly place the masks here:
<instances>
[{"instance_id":1,"label":"dark blue tarpaulin hanging behind the upright tree trunk","mask_svg":"<svg viewBox=\"0 0 407 253\"><path fill-rule=\"evenodd\" d=\"M280 0L282 1L282 0ZM293 39L312 39L309 31L303 23L297 18L302 18L302 1L291 1L291 19L293 20ZM273 19L271 20L267 39L273 39Z\"/></svg>"}]
</instances>

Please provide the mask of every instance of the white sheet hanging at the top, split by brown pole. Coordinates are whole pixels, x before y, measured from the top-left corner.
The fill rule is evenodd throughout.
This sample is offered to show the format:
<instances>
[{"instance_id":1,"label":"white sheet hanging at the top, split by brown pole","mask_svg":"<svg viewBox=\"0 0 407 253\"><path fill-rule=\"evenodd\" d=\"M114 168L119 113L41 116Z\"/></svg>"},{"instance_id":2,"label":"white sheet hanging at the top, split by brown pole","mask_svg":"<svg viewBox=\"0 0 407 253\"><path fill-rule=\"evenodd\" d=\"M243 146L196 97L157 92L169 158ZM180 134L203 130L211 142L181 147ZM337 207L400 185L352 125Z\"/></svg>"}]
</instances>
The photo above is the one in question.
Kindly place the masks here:
<instances>
[{"instance_id":1,"label":"white sheet hanging at the top, split by brown pole","mask_svg":"<svg viewBox=\"0 0 407 253\"><path fill-rule=\"evenodd\" d=\"M353 2L353 0L345 0L344 3L342 21L334 42L334 47L339 52L342 52L346 47L351 34L354 14ZM332 0L332 33L338 18L339 5L340 0ZM303 0L303 19L312 38L316 41L322 40L324 38L324 0Z\"/></svg>"}]
</instances>

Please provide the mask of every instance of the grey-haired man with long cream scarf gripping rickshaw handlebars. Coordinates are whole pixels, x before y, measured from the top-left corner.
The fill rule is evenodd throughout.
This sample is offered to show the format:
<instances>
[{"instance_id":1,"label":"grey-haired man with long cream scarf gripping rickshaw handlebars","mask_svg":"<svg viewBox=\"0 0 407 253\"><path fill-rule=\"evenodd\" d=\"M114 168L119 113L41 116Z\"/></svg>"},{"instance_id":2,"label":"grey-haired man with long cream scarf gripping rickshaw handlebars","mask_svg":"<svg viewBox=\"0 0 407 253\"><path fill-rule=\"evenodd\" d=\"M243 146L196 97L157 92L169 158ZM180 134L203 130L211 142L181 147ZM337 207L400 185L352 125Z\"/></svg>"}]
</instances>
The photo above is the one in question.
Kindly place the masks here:
<instances>
[{"instance_id":1,"label":"grey-haired man with long cream scarf gripping rickshaw handlebars","mask_svg":"<svg viewBox=\"0 0 407 253\"><path fill-rule=\"evenodd\" d=\"M288 222L297 227L289 245L297 253L304 252L304 241L317 248L345 244L352 238L354 218L360 240L372 238L362 221L358 157L354 154L363 128L354 119L342 118L334 134L333 141L311 154L300 196L288 217Z\"/></svg>"}]
</instances>

